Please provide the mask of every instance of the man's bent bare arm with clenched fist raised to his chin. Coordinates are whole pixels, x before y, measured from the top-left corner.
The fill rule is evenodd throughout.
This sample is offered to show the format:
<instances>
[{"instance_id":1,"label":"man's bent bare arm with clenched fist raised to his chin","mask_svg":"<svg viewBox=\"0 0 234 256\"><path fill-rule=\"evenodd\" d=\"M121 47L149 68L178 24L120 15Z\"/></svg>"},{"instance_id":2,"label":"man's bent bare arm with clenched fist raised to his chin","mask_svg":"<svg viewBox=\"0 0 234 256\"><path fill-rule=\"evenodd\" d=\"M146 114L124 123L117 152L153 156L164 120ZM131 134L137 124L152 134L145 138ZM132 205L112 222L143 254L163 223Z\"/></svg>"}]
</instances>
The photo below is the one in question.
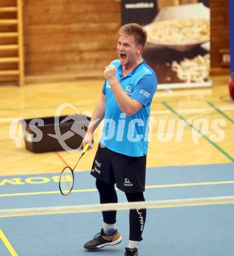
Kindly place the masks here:
<instances>
[{"instance_id":1,"label":"man's bent bare arm with clenched fist raised to his chin","mask_svg":"<svg viewBox=\"0 0 234 256\"><path fill-rule=\"evenodd\" d=\"M115 95L115 100L117 101L119 108L123 112L125 112L127 116L132 116L133 114L138 112L138 110L140 110L140 108L142 108L143 105L137 100L130 98L125 93L125 91L123 90L115 76L115 72L115 66L109 65L106 66L104 74L106 79L109 81L109 85L111 86L113 94Z\"/></svg>"}]
</instances>

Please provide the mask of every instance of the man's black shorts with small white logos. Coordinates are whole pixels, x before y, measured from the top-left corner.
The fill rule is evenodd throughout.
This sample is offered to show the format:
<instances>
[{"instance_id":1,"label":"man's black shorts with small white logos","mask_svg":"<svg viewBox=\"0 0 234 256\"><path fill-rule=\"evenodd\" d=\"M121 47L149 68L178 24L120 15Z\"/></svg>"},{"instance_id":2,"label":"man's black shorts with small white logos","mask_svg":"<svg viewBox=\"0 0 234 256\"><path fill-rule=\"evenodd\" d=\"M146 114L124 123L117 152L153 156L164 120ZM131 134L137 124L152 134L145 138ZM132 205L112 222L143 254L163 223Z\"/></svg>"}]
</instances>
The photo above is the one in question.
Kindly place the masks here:
<instances>
[{"instance_id":1,"label":"man's black shorts with small white logos","mask_svg":"<svg viewBox=\"0 0 234 256\"><path fill-rule=\"evenodd\" d=\"M116 183L123 192L143 192L146 185L146 156L125 156L99 145L91 175L107 184Z\"/></svg>"}]
</instances>

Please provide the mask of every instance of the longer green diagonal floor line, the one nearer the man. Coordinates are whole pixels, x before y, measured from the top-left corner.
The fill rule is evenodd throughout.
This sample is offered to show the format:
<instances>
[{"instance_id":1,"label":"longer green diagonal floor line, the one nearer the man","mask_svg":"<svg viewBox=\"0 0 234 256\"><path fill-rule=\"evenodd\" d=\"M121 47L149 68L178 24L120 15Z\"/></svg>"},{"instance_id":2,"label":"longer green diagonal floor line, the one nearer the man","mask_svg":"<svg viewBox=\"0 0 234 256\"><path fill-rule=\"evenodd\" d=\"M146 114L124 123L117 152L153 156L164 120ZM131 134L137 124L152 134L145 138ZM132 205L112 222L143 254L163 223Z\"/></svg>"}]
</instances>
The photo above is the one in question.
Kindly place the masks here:
<instances>
[{"instance_id":1,"label":"longer green diagonal floor line, the one nearer the man","mask_svg":"<svg viewBox=\"0 0 234 256\"><path fill-rule=\"evenodd\" d=\"M214 146L216 149L218 149L222 154L224 154L224 156L226 158L228 158L229 160L231 160L234 163L234 158L232 158L231 156L229 156L229 154L227 154L227 152L225 152L222 148L220 148L220 146L218 146L216 143L212 142L212 140L210 140L206 135L204 135L203 133L201 133L201 131L199 129L197 129L197 127L193 126L191 123L189 123L189 121L187 121L187 119L185 119L183 116L181 116L180 114L178 114L178 112L176 112L176 110L174 110L174 108L172 108L171 106L169 106L165 101L162 102L162 104L168 108L168 110L170 110L173 114L175 114L178 118L182 119L185 123L187 123L187 125L189 125L189 127L191 127L191 129L194 129L195 131L197 131L197 133L199 133L199 135L201 135L201 137L203 137L205 140L207 140L210 144L212 144L212 146Z\"/></svg>"}]
</instances>

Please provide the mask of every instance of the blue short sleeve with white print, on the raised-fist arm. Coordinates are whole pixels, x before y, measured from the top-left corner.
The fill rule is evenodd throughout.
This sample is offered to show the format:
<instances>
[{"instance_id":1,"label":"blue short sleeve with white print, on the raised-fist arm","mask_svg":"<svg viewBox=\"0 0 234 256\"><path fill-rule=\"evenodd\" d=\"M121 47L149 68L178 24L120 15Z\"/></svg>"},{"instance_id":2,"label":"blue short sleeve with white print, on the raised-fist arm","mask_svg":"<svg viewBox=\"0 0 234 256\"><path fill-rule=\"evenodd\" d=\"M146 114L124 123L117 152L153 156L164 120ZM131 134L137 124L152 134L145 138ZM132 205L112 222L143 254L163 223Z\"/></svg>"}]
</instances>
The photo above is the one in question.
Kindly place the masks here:
<instances>
[{"instance_id":1,"label":"blue short sleeve with white print, on the raised-fist arm","mask_svg":"<svg viewBox=\"0 0 234 256\"><path fill-rule=\"evenodd\" d=\"M155 91L157 91L156 75L146 75L138 81L131 98L139 101L144 106L148 106L151 104Z\"/></svg>"}]
</instances>

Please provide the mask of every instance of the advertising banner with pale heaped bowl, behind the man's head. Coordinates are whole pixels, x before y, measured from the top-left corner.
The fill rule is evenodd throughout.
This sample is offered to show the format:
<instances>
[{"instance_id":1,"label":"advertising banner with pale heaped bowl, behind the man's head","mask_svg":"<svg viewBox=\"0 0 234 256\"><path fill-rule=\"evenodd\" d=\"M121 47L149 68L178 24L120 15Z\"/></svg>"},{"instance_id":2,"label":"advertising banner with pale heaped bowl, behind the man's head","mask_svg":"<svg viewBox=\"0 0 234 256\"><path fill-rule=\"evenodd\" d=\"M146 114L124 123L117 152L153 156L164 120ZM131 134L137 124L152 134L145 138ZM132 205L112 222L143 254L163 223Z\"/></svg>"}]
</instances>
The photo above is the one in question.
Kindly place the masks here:
<instances>
[{"instance_id":1,"label":"advertising banner with pale heaped bowl, behind the man's head","mask_svg":"<svg viewBox=\"0 0 234 256\"><path fill-rule=\"evenodd\" d=\"M159 89L210 87L208 0L122 0L122 24L146 28L143 57Z\"/></svg>"}]
</instances>

